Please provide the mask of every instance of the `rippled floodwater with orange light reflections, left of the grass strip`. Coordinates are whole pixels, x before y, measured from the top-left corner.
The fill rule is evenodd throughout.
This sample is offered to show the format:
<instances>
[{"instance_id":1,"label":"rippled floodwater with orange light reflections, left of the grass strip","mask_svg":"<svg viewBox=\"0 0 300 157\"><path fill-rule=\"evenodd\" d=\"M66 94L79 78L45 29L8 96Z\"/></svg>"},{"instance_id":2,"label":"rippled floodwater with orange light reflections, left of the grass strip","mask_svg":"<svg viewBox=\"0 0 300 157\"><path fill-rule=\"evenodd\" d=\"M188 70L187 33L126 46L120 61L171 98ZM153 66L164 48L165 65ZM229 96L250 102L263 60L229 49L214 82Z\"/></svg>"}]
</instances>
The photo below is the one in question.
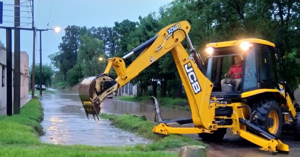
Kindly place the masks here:
<instances>
[{"instance_id":1,"label":"rippled floodwater with orange light reflections, left of the grass strip","mask_svg":"<svg viewBox=\"0 0 300 157\"><path fill-rule=\"evenodd\" d=\"M149 141L110 125L108 120L88 120L78 94L44 94L41 103L46 134L41 141L53 144L86 144L94 146L122 146Z\"/></svg>"}]
</instances>

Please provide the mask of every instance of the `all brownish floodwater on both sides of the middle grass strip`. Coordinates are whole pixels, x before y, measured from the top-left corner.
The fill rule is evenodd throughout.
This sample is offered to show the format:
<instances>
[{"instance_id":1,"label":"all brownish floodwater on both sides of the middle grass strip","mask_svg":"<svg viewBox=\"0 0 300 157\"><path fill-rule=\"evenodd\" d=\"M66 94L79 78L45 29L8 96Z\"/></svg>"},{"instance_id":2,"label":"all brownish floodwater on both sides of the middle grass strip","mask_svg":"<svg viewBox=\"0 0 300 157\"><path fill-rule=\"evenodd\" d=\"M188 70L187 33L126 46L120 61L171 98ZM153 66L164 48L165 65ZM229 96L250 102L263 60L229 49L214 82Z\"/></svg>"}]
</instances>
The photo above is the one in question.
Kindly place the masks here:
<instances>
[{"instance_id":1,"label":"all brownish floodwater on both sides of the middle grass strip","mask_svg":"<svg viewBox=\"0 0 300 157\"><path fill-rule=\"evenodd\" d=\"M43 94L40 99L44 108L44 120L41 125L45 135L42 142L53 144L85 144L93 146L123 146L147 144L150 141L125 132L110 125L110 121L99 118L94 120L89 115L86 118L84 109L77 93L67 93L55 90L54 94ZM145 115L147 119L154 119L152 104L105 99L101 104L101 112L107 114ZM172 108L161 109L163 119L190 117L189 111Z\"/></svg>"}]
</instances>

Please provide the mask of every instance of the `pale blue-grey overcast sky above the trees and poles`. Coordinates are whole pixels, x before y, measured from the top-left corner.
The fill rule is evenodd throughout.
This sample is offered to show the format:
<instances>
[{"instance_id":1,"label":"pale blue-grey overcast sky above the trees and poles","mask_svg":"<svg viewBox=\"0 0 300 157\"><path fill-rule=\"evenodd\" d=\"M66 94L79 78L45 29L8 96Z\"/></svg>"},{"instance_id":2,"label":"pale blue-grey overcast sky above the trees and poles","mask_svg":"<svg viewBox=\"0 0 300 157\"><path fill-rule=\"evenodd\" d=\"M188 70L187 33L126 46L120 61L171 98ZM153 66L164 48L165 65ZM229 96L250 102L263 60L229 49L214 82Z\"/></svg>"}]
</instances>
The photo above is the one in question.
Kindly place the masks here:
<instances>
[{"instance_id":1,"label":"pale blue-grey overcast sky above the trees and poles","mask_svg":"<svg viewBox=\"0 0 300 157\"><path fill-rule=\"evenodd\" d=\"M13 27L14 7L5 4L14 4L13 0L3 1L3 24L0 26ZM61 31L42 31L42 63L50 64L48 55L58 52L58 45L61 37L64 36L64 28L68 25L87 26L91 28L114 26L114 22L122 22L124 19L139 21L138 17L145 17L151 12L158 12L158 8L172 0L34 0L34 21L37 29L50 29L60 27ZM23 3L24 2L24 3ZM29 1L20 0L21 5L30 5ZM20 7L21 11L31 11L30 7ZM32 17L31 13L21 12L22 17ZM20 18L22 28L31 28L32 18ZM49 26L47 25L49 23ZM23 26L26 25L26 26ZM13 42L12 31L12 42ZM0 40L6 47L6 31L0 29ZM39 32L36 38L36 49L40 49ZM14 47L12 43L12 49ZM20 33L20 50L26 51L29 55L29 65L32 64L33 55L33 32L23 31ZM40 53L36 51L36 63L40 62ZM14 50L13 50L14 51Z\"/></svg>"}]
</instances>

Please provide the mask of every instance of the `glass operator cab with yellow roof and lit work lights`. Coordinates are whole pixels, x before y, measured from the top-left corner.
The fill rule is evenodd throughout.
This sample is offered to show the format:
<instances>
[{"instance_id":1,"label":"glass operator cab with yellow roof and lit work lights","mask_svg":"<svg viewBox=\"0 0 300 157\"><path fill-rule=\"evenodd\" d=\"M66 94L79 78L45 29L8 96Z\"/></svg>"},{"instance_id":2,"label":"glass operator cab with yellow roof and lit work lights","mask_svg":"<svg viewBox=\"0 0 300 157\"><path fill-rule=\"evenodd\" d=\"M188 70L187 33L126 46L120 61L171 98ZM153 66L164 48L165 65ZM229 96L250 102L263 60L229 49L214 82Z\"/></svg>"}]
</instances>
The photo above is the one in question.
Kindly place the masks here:
<instances>
[{"instance_id":1,"label":"glass operator cab with yellow roof and lit work lights","mask_svg":"<svg viewBox=\"0 0 300 157\"><path fill-rule=\"evenodd\" d=\"M213 82L211 96L216 98L241 98L241 94L262 88L277 87L276 54L274 44L260 39L244 39L206 45L209 54L206 77ZM236 91L222 90L221 81L235 64L235 56L241 57L241 83ZM231 80L227 78L227 84ZM233 86L235 84L232 83Z\"/></svg>"}]
</instances>

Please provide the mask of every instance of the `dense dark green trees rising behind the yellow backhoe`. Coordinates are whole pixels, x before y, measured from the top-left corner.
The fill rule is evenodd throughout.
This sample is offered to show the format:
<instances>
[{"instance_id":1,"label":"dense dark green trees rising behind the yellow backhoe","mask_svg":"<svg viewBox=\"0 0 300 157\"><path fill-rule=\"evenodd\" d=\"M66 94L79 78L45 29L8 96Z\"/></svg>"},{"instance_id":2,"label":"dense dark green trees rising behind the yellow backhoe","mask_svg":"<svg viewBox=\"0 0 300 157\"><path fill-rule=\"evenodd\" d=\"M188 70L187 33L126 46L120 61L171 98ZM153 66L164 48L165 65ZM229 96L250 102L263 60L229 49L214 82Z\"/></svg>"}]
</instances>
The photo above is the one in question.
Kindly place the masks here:
<instances>
[{"instance_id":1,"label":"dense dark green trees rising behind the yellow backhoe","mask_svg":"<svg viewBox=\"0 0 300 157\"><path fill-rule=\"evenodd\" d=\"M300 77L297 61L300 57L299 5L300 0L176 0L160 7L158 13L139 16L138 22L125 19L115 22L113 27L68 26L58 46L60 52L49 58L64 76L62 81L73 85L104 71L107 63L99 62L98 57L122 57L165 26L185 20L191 25L189 37L203 57L207 43L244 38L260 38L274 43L281 52L282 71L288 72L283 73L281 79L295 89ZM126 65L135 58L137 55L127 59ZM166 82L164 92L174 95L181 90L181 81L174 67L171 54L164 55L132 82L139 84L145 92L157 81Z\"/></svg>"}]
</instances>

